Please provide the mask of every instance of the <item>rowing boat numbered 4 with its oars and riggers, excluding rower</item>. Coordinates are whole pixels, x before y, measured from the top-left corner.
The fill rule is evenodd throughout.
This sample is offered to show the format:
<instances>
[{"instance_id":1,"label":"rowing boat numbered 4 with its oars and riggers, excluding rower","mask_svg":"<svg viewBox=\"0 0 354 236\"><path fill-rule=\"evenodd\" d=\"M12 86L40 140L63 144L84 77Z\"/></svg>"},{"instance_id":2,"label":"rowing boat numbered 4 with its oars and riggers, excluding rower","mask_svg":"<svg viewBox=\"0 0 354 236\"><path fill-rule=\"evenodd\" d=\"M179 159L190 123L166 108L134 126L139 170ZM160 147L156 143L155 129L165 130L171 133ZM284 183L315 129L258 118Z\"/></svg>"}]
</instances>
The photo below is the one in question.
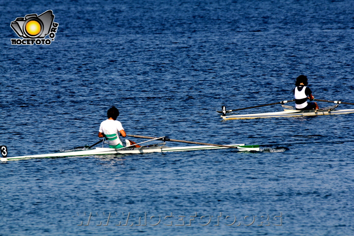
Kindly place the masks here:
<instances>
[{"instance_id":1,"label":"rowing boat numbered 4 with its oars and riggers, excluding rower","mask_svg":"<svg viewBox=\"0 0 354 236\"><path fill-rule=\"evenodd\" d=\"M255 118L342 115L342 114L354 113L354 109L342 109L342 110L336 109L341 103L354 105L353 103L347 103L347 102L341 102L341 101L327 101L327 100L320 100L320 99L315 99L315 100L316 101L324 101L324 102L333 102L333 103L336 103L337 105L329 106L329 107L325 107L325 108L317 109L317 110L296 110L293 106L284 105L284 103L287 103L290 101L282 101L279 103L271 103L271 104L261 105L261 106L267 106L267 105L273 105L273 104L281 104L282 107L284 108L284 111L282 111L282 112L255 113L255 114L243 114L243 115L232 115L232 116L226 116L226 113L229 113L232 111L244 110L244 109L248 109L248 108L226 110L226 108L223 106L222 111L221 111L223 113L223 115L221 116L221 118L223 118L224 120L230 120L230 119L255 119ZM292 101L294 101L294 100L292 100ZM255 107L260 107L260 106L255 106ZM251 108L255 108L255 107L251 107ZM218 111L218 112L220 112L220 111Z\"/></svg>"}]
</instances>

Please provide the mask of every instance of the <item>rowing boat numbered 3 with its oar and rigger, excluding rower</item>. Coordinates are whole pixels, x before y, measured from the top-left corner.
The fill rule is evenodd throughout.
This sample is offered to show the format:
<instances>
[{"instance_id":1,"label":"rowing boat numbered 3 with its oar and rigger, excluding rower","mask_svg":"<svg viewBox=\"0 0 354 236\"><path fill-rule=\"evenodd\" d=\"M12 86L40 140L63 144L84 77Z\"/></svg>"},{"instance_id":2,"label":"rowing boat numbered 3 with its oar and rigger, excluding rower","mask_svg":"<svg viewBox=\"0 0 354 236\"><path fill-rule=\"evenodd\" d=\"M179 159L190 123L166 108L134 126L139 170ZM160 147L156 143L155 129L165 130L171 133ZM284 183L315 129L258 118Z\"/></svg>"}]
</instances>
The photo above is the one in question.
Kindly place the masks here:
<instances>
[{"instance_id":1,"label":"rowing boat numbered 3 with its oar and rigger, excluding rower","mask_svg":"<svg viewBox=\"0 0 354 236\"><path fill-rule=\"evenodd\" d=\"M133 137L144 137L151 140L141 142L139 144L147 143L150 141L163 140L163 141L175 141L182 143L192 143L192 144L204 144L198 142L189 142L182 140L171 140L166 137L153 138L147 136L129 135ZM99 143L99 142L98 142ZM259 151L258 145L245 146L244 144L234 144L234 145L203 145L203 146L185 146L185 147L167 147L166 142L152 144L147 146L142 146L140 148L135 148L134 145L124 147L124 148L94 148L89 150L78 150L70 152L59 152L59 153L49 153L49 154L39 154L39 155L28 155L28 156L15 156L15 157L2 157L1 161L8 160L19 160L28 158L50 158L50 157L67 157L67 156L88 156L88 155L107 155L107 154L141 154L141 153L151 153L151 152L171 152L171 151L191 151L191 150L204 150L204 149L222 149L222 148L236 148L239 151Z\"/></svg>"}]
</instances>

